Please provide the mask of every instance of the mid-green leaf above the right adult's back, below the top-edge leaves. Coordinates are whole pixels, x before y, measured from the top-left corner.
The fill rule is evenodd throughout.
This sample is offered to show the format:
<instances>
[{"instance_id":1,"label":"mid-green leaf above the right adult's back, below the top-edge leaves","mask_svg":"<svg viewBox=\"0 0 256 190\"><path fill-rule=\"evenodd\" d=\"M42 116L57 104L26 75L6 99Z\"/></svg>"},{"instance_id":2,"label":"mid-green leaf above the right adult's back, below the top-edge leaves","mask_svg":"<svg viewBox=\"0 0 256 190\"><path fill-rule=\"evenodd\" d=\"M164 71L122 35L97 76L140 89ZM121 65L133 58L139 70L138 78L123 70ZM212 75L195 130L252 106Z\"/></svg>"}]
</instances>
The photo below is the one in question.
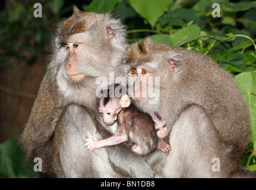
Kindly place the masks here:
<instances>
[{"instance_id":1,"label":"mid-green leaf above the right adult's back, below the top-edge leaves","mask_svg":"<svg viewBox=\"0 0 256 190\"><path fill-rule=\"evenodd\" d=\"M197 40L200 31L200 27L196 24L192 24L191 26L179 29L176 33L170 35L170 39L172 39L173 46L181 46L185 43L191 42L192 40Z\"/></svg>"}]
</instances>

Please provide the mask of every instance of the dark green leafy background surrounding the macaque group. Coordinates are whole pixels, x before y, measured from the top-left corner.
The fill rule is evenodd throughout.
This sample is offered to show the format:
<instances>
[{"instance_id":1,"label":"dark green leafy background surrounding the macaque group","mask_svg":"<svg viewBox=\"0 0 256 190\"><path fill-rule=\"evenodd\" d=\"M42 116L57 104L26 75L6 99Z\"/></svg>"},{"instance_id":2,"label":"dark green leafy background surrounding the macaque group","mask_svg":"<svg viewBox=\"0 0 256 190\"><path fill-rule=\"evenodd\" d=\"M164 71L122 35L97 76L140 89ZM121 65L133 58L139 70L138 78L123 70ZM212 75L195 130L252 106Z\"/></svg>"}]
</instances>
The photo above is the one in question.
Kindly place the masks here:
<instances>
[{"instance_id":1,"label":"dark green leafy background surrounding the macaque group","mask_svg":"<svg viewBox=\"0 0 256 190\"><path fill-rule=\"evenodd\" d=\"M170 46L205 53L229 72L244 94L251 118L251 144L242 165L256 170L256 1L94 0L40 1L43 17L33 16L36 1L0 2L0 176L31 178L17 138L29 116L45 72L54 26L83 11L110 12L127 25L129 42L146 36ZM220 17L212 17L213 3Z\"/></svg>"}]
</instances>

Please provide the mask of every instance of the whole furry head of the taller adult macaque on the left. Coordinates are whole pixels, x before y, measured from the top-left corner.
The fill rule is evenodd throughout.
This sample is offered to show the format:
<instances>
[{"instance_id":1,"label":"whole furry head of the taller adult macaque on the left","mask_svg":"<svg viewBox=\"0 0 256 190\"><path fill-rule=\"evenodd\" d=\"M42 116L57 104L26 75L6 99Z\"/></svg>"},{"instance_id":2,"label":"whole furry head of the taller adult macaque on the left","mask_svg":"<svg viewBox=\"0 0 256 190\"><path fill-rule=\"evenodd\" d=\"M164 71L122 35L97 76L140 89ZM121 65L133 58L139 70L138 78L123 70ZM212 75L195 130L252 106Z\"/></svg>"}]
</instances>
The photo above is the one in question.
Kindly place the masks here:
<instances>
[{"instance_id":1,"label":"whole furry head of the taller adult macaque on the left","mask_svg":"<svg viewBox=\"0 0 256 190\"><path fill-rule=\"evenodd\" d=\"M61 23L55 39L58 83L83 84L86 78L109 75L120 64L116 57L124 56L127 47L123 31L119 20L76 9Z\"/></svg>"}]
</instances>

